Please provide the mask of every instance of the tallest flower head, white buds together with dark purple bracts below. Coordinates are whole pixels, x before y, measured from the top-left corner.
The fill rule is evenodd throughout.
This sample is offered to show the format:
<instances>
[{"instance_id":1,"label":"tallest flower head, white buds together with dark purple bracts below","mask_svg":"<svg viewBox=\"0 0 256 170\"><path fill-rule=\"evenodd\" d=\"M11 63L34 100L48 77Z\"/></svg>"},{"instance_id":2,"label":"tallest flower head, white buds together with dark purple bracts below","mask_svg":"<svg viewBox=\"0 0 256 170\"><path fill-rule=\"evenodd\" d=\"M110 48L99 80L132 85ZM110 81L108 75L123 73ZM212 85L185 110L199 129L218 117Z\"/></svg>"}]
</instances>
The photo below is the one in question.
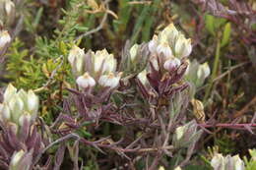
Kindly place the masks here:
<instances>
[{"instance_id":1,"label":"tallest flower head, white buds together with dark purple bracts below","mask_svg":"<svg viewBox=\"0 0 256 170\"><path fill-rule=\"evenodd\" d=\"M137 76L143 95L150 100L155 96L168 98L175 91L184 89L187 85L182 79L188 66L186 57L192 51L191 40L170 24L159 35L154 35L147 43L147 49L148 65ZM144 45L131 47L131 61L140 62L136 60L140 51L145 51Z\"/></svg>"}]
</instances>

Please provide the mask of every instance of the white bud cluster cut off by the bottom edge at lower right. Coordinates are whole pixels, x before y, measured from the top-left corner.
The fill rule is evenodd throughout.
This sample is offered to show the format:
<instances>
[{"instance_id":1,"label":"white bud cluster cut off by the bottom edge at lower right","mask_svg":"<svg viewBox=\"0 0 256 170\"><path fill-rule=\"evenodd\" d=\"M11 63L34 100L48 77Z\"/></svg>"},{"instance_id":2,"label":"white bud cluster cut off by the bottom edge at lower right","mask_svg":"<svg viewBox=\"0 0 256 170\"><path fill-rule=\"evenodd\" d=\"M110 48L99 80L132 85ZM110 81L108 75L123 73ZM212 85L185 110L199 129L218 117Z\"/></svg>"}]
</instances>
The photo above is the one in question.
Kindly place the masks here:
<instances>
[{"instance_id":1,"label":"white bud cluster cut off by the bottom edge at lower right","mask_svg":"<svg viewBox=\"0 0 256 170\"><path fill-rule=\"evenodd\" d=\"M230 156L220 153L215 153L211 160L211 165L214 170L244 170L244 162L238 155Z\"/></svg>"}]
</instances>

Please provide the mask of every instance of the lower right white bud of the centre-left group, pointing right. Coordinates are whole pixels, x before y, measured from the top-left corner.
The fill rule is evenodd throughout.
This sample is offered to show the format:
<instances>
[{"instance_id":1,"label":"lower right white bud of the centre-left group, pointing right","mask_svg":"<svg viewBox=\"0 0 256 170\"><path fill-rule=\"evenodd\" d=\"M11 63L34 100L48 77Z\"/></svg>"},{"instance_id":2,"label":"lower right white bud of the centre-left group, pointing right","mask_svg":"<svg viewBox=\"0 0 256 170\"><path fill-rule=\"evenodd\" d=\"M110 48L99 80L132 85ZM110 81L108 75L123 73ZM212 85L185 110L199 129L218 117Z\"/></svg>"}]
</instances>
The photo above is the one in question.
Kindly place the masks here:
<instances>
[{"instance_id":1,"label":"lower right white bud of the centre-left group, pointing right","mask_svg":"<svg viewBox=\"0 0 256 170\"><path fill-rule=\"evenodd\" d=\"M99 78L98 84L102 86L108 86L110 88L114 88L117 85L119 85L121 75L122 73L119 73L117 76L114 76L113 73L109 73L108 75L103 75Z\"/></svg>"}]
</instances>

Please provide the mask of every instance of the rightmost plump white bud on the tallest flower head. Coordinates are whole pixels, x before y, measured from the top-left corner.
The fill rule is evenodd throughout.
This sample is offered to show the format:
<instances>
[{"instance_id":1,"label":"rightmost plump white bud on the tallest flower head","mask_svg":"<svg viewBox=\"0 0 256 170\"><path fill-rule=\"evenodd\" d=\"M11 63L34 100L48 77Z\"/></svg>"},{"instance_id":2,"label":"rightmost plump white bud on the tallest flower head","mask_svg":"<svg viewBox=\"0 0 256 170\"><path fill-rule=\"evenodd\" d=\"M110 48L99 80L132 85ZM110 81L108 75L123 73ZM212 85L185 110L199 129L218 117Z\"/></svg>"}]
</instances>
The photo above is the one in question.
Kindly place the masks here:
<instances>
[{"instance_id":1,"label":"rightmost plump white bud on the tallest flower head","mask_svg":"<svg viewBox=\"0 0 256 170\"><path fill-rule=\"evenodd\" d=\"M182 58L187 57L192 51L191 39L186 39L183 34L179 34L175 42L175 55Z\"/></svg>"}]
</instances>

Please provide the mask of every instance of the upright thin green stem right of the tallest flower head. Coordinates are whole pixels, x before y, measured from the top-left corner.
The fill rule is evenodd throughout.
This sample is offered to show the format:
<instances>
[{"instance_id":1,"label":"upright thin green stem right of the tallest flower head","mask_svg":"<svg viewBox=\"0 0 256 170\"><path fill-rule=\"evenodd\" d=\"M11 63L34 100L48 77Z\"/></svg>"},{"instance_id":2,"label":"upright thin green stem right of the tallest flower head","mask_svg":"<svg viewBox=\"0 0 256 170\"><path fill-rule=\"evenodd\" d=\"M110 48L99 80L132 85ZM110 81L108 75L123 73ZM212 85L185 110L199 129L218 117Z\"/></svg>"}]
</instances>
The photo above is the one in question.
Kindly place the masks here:
<instances>
[{"instance_id":1,"label":"upright thin green stem right of the tallest flower head","mask_svg":"<svg viewBox=\"0 0 256 170\"><path fill-rule=\"evenodd\" d=\"M206 102L206 100L208 99L212 86L214 85L214 80L216 79L217 76L217 71L218 71L218 66L219 66L219 61L220 61L220 53L221 53L221 42L220 40L217 41L217 48L216 48L216 54L215 54L215 63L214 63L214 69L213 69L213 73L210 79L210 84L208 85L207 89L206 89L206 94L204 97L204 103Z\"/></svg>"}]
</instances>

